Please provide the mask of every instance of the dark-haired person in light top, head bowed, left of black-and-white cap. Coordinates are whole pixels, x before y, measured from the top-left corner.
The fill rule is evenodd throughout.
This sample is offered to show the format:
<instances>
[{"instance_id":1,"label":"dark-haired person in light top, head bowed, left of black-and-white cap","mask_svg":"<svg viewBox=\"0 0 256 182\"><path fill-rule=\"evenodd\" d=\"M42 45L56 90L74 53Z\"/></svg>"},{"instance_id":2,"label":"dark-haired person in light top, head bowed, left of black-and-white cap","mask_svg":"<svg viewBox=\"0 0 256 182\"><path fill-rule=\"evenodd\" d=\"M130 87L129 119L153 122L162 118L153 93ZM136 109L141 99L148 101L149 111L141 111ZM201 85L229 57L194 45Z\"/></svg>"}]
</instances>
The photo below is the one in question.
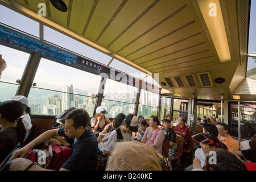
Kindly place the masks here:
<instances>
[{"instance_id":1,"label":"dark-haired person in light top, head bowed, left of black-and-white cap","mask_svg":"<svg viewBox=\"0 0 256 182\"><path fill-rule=\"evenodd\" d=\"M98 143L100 143L101 139L104 138L104 135L101 134L110 134L122 124L122 121L125 119L125 117L126 115L123 113L117 114L114 118L114 121L106 125L104 130L98 135Z\"/></svg>"}]
</instances>

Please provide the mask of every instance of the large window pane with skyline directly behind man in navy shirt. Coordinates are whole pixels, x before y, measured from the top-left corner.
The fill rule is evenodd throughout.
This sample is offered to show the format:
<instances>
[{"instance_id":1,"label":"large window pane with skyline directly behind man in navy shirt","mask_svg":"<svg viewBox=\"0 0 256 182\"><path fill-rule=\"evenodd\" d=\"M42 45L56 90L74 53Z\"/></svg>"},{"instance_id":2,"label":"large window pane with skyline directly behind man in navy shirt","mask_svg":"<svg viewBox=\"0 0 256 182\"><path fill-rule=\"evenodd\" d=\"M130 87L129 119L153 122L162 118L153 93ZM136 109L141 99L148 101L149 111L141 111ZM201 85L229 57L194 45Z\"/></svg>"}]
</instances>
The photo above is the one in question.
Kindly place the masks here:
<instances>
[{"instance_id":1,"label":"large window pane with skyline directly behind man in navy shirt","mask_svg":"<svg viewBox=\"0 0 256 182\"><path fill-rule=\"evenodd\" d=\"M41 59L34 78L36 87L28 94L29 105L40 107L40 111L35 107L37 114L49 115L60 114L69 107L82 107L92 117L100 80L92 73Z\"/></svg>"}]
</instances>

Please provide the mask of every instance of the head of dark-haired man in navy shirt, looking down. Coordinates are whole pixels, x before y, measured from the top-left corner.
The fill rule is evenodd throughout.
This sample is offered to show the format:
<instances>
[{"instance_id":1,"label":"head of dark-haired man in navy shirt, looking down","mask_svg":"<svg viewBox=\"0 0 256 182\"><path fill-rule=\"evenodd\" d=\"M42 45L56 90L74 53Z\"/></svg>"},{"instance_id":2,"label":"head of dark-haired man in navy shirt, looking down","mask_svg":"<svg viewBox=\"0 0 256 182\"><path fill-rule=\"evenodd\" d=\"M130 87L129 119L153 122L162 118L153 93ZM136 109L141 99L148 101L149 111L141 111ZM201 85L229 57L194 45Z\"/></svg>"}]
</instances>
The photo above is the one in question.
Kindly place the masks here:
<instances>
[{"instance_id":1,"label":"head of dark-haired man in navy shirt, looking down","mask_svg":"<svg viewBox=\"0 0 256 182\"><path fill-rule=\"evenodd\" d=\"M84 109L74 109L65 115L65 135L69 138L80 137L90 122L90 115Z\"/></svg>"}]
</instances>

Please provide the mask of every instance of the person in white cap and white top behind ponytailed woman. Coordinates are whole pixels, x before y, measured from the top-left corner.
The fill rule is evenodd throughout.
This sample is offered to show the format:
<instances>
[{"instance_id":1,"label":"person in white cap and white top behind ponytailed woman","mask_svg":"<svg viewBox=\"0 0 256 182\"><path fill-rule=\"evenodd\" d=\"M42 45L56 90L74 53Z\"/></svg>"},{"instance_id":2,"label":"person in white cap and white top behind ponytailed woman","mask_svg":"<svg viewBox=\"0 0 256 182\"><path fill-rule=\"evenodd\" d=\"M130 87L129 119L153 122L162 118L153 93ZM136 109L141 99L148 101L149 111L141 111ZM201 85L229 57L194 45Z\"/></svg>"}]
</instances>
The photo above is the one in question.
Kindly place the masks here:
<instances>
[{"instance_id":1,"label":"person in white cap and white top behind ponytailed woman","mask_svg":"<svg viewBox=\"0 0 256 182\"><path fill-rule=\"evenodd\" d=\"M9 98L9 100L14 100L14 101L20 101L23 106L24 106L24 113L22 114L22 122L26 128L26 131L28 131L29 129L31 129L32 124L31 124L31 113L30 113L30 107L28 107L28 100L27 97L24 96L14 96Z\"/></svg>"}]
</instances>

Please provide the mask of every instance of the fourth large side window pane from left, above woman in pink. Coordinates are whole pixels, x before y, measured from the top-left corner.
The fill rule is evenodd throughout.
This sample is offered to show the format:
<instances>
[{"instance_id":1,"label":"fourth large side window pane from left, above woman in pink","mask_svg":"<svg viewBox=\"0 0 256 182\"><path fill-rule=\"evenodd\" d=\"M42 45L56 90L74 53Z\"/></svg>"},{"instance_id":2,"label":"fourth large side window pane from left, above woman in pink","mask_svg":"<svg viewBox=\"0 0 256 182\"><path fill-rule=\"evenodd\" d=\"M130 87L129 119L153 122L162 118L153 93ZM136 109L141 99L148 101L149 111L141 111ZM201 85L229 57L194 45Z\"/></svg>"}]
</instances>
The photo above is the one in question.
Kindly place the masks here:
<instances>
[{"instance_id":1,"label":"fourth large side window pane from left, above woman in pink","mask_svg":"<svg viewBox=\"0 0 256 182\"><path fill-rule=\"evenodd\" d=\"M158 115L158 100L159 94L141 89L137 115L144 115L146 119L149 119L151 115Z\"/></svg>"}]
</instances>

